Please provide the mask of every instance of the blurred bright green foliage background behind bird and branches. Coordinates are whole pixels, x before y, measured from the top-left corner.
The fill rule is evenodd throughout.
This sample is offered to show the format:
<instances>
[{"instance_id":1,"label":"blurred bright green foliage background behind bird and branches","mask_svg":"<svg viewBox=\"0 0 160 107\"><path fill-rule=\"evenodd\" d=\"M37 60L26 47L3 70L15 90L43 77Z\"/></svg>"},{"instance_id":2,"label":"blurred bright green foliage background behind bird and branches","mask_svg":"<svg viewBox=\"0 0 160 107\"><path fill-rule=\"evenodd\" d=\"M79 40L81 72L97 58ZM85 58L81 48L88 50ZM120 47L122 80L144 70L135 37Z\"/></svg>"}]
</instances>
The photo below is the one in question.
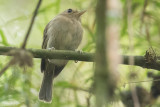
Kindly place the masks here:
<instances>
[{"instance_id":1,"label":"blurred bright green foliage background behind bird and branches","mask_svg":"<svg viewBox=\"0 0 160 107\"><path fill-rule=\"evenodd\" d=\"M38 0L0 0L1 46L20 47L37 2ZM160 47L160 1L151 0L148 2L142 22L144 0L133 0L134 52L132 53L129 51L126 0L121 0L119 5L122 7L120 17L116 19L120 27L119 53L144 55L150 46ZM81 18L84 35L79 50L95 52L95 7L96 0L43 0L29 37L27 48L40 49L43 30L47 23L58 13L68 8L74 8L87 10ZM0 69L9 60L10 57L0 56ZM119 66L120 81L118 90L128 89L128 85L124 87L124 84L130 80L129 69L130 66ZM155 74L159 74L156 70L134 67L135 80L148 80L148 71L154 71ZM33 68L12 66L0 77L0 107L94 107L94 96L91 95L90 97L90 93L84 91L91 87L93 73L93 63L70 61L63 72L54 80L52 103L45 104L38 100L38 92L43 76L40 72L40 59L34 59ZM151 82L140 82L136 85L143 86L149 91ZM109 106L123 107L119 97L117 99ZM157 101L154 107L158 107L158 105L160 105L160 101Z\"/></svg>"}]
</instances>

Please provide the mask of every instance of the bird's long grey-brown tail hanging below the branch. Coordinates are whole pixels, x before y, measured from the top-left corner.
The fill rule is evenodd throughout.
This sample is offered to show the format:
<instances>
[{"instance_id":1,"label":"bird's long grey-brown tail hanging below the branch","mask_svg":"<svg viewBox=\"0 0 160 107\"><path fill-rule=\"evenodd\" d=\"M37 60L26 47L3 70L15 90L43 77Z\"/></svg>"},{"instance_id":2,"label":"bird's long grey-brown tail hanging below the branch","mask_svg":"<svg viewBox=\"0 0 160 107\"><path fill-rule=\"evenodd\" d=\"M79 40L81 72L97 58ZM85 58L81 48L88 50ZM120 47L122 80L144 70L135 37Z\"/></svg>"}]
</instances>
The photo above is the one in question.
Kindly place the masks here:
<instances>
[{"instance_id":1,"label":"bird's long grey-brown tail hanging below the branch","mask_svg":"<svg viewBox=\"0 0 160 107\"><path fill-rule=\"evenodd\" d=\"M54 77L53 66L48 66L48 69L44 71L43 81L39 92L39 99L45 102L52 101L52 83Z\"/></svg>"}]
</instances>

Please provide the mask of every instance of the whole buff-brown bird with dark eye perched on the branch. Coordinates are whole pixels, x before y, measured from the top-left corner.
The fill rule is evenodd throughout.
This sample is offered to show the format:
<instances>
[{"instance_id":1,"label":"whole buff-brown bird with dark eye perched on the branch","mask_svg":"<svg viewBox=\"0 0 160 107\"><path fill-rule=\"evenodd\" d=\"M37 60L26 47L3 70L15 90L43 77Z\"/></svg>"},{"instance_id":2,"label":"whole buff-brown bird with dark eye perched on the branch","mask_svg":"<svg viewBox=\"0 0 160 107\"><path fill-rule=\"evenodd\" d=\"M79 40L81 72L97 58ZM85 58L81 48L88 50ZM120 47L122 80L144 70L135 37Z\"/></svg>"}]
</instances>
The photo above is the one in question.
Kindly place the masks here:
<instances>
[{"instance_id":1,"label":"whole buff-brown bird with dark eye perched on the branch","mask_svg":"<svg viewBox=\"0 0 160 107\"><path fill-rule=\"evenodd\" d=\"M83 37L81 16L86 10L67 9L55 16L45 27L42 49L73 50L80 45ZM52 85L55 77L64 69L68 60L41 59L43 80L39 100L52 102Z\"/></svg>"}]
</instances>

